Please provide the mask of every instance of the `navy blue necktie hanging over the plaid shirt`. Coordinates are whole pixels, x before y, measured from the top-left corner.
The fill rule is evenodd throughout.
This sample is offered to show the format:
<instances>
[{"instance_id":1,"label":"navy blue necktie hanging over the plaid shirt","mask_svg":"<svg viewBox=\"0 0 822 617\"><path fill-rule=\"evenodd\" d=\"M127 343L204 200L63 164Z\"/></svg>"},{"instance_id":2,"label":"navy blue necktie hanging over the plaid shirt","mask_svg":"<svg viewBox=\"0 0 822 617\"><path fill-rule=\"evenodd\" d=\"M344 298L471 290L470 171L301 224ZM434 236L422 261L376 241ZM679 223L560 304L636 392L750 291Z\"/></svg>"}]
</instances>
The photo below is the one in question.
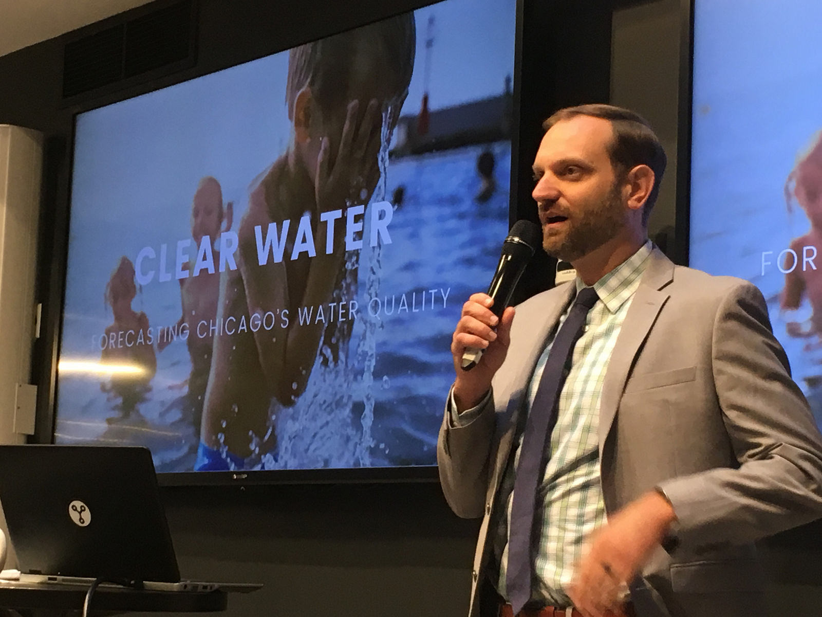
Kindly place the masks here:
<instances>
[{"instance_id":1,"label":"navy blue necktie hanging over the plaid shirt","mask_svg":"<svg viewBox=\"0 0 822 617\"><path fill-rule=\"evenodd\" d=\"M556 406L562 384L565 383L566 364L570 364L576 341L582 336L585 318L597 303L593 287L584 287L571 305L568 317L556 333L548 359L539 380L537 393L525 424L520 461L514 480L514 496L508 533L508 568L506 588L514 615L531 597L533 579L533 519L537 485L546 460L545 444L556 424Z\"/></svg>"}]
</instances>

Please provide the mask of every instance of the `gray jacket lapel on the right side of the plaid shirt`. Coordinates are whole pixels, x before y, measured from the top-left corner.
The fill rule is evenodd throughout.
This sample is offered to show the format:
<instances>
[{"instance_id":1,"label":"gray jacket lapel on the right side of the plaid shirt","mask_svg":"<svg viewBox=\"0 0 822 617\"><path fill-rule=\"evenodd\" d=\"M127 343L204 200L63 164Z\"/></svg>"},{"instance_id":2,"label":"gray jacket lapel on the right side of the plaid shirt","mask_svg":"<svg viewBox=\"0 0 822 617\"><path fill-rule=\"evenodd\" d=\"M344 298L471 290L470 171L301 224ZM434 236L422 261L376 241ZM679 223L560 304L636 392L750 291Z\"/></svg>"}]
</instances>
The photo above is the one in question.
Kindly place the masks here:
<instances>
[{"instance_id":1,"label":"gray jacket lapel on the right side of the plaid shirt","mask_svg":"<svg viewBox=\"0 0 822 617\"><path fill-rule=\"evenodd\" d=\"M642 275L640 287L631 301L625 321L622 322L603 379L603 394L599 401L600 461L603 460L603 446L617 415L617 407L636 354L669 297L663 288L673 280L673 262L658 248L653 248L649 259L651 262Z\"/></svg>"}]
</instances>

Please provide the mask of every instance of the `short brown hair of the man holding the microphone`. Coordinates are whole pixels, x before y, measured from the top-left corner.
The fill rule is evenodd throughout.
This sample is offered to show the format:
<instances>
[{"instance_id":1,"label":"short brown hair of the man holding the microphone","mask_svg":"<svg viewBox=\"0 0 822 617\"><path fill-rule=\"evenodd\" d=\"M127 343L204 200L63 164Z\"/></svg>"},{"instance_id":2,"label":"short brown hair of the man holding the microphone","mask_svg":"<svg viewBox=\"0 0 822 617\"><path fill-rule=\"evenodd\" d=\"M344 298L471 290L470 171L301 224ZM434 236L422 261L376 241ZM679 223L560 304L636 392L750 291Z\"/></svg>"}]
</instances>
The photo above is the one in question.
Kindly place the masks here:
<instances>
[{"instance_id":1,"label":"short brown hair of the man holding the microphone","mask_svg":"<svg viewBox=\"0 0 822 617\"><path fill-rule=\"evenodd\" d=\"M577 105L560 109L543 123L543 128L547 132L554 124L576 116L603 118L611 123L614 138L607 148L617 177L624 176L636 165L648 165L653 170L653 188L642 211L643 225L647 225L667 165L667 156L653 128L640 114L607 104Z\"/></svg>"}]
</instances>

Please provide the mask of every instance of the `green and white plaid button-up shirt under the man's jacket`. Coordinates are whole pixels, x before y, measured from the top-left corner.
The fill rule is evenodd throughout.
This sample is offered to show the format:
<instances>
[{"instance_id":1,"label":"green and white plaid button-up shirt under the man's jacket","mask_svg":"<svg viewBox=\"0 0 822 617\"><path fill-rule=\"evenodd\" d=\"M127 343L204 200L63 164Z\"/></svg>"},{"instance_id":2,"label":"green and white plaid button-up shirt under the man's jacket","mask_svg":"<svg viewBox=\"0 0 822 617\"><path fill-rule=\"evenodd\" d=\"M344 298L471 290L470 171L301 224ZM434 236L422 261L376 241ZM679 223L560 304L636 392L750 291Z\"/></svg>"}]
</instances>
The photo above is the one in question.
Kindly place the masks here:
<instances>
[{"instance_id":1,"label":"green and white plaid button-up shirt under the man's jacket","mask_svg":"<svg viewBox=\"0 0 822 617\"><path fill-rule=\"evenodd\" d=\"M605 522L599 478L599 401L608 362L631 299L640 286L651 248L647 242L593 285L599 300L588 313L585 330L573 352L570 373L560 393L556 426L547 443L551 458L537 489L538 511L534 524L540 533L531 591L533 599L552 605L570 605L566 589L584 540ZM583 283L577 279L576 285L580 290ZM560 318L560 325L568 308L570 304ZM537 392L552 342L547 341L531 376L525 412ZM524 426L524 422L520 426ZM522 434L519 434L513 446L514 464L509 465L503 476L496 503L496 511L506 513L497 519L493 540L499 573L497 590L503 597L506 597L508 522L514 485L511 470L519 462L521 443Z\"/></svg>"}]
</instances>

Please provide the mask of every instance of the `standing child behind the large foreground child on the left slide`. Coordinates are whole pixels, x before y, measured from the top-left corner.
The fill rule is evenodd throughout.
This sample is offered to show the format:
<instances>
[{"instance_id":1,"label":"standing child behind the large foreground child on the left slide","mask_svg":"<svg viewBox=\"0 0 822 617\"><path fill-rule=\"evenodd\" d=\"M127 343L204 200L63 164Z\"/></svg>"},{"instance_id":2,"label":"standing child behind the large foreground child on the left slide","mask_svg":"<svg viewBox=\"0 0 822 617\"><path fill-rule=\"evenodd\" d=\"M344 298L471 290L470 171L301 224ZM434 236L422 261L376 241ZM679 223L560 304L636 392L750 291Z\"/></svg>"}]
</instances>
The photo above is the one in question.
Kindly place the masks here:
<instances>
[{"instance_id":1,"label":"standing child behind the large foreground child on the left slide","mask_svg":"<svg viewBox=\"0 0 822 617\"><path fill-rule=\"evenodd\" d=\"M197 184L192 199L192 239L196 249L201 246L203 239L206 239L206 243L212 248L211 261L215 268L214 271L198 270L195 262L199 251L192 252L192 257L186 264L189 276L180 279L182 315L174 326L175 332L180 332L183 324L186 324L188 330L186 344L192 360L192 370L188 376L187 399L197 437L200 435L205 386L211 369L211 347L214 342L210 327L201 327L201 322L210 324L217 317L219 249L215 248L215 243L222 232L231 229L232 220L232 203L229 202L223 208L223 190L219 182L212 176L205 176ZM170 335L168 330L161 332L157 349L164 350L175 338L176 336Z\"/></svg>"}]
</instances>

